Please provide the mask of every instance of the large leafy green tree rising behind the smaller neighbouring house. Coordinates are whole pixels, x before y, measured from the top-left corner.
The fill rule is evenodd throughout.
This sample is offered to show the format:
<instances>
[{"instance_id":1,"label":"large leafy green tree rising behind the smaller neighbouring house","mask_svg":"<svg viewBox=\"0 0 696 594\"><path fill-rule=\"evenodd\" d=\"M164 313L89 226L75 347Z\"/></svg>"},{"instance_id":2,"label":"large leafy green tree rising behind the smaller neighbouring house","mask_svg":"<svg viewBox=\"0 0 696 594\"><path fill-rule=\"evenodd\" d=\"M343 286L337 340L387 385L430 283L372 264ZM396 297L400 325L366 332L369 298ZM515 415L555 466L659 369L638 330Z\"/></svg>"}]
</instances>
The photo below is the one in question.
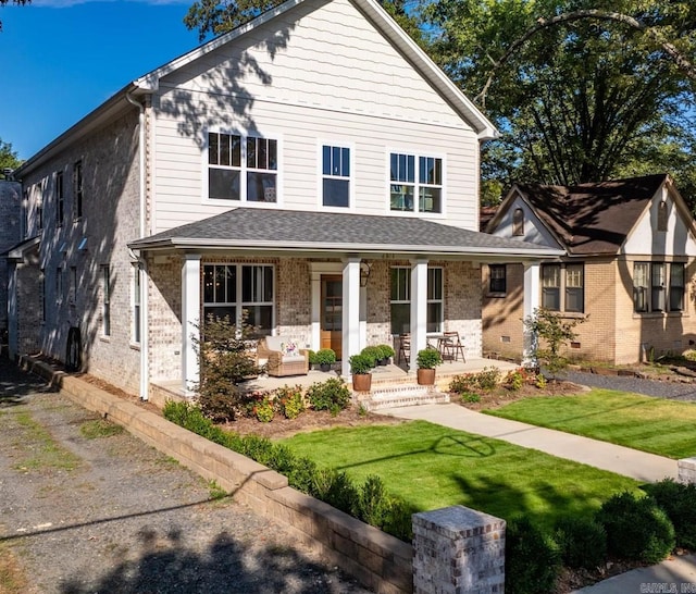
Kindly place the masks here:
<instances>
[{"instance_id":1,"label":"large leafy green tree rising behind the smaller neighbouring house","mask_svg":"<svg viewBox=\"0 0 696 594\"><path fill-rule=\"evenodd\" d=\"M436 61L501 132L484 147L482 187L649 171L671 173L688 198L689 0L433 0L420 15Z\"/></svg>"}]
</instances>

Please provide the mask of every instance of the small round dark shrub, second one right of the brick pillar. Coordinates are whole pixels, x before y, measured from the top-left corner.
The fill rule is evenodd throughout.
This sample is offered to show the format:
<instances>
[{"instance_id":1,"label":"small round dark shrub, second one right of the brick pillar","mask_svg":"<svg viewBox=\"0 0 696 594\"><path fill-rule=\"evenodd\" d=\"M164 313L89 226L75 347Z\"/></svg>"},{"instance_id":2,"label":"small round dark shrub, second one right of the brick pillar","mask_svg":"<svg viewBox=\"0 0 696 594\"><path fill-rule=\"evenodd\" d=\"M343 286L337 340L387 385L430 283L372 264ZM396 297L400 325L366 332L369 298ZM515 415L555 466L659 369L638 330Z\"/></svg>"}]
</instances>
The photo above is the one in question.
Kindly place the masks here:
<instances>
[{"instance_id":1,"label":"small round dark shrub, second one right of the brick pillar","mask_svg":"<svg viewBox=\"0 0 696 594\"><path fill-rule=\"evenodd\" d=\"M592 518L561 518L555 540L568 567L595 569L607 559L607 532Z\"/></svg>"}]
</instances>

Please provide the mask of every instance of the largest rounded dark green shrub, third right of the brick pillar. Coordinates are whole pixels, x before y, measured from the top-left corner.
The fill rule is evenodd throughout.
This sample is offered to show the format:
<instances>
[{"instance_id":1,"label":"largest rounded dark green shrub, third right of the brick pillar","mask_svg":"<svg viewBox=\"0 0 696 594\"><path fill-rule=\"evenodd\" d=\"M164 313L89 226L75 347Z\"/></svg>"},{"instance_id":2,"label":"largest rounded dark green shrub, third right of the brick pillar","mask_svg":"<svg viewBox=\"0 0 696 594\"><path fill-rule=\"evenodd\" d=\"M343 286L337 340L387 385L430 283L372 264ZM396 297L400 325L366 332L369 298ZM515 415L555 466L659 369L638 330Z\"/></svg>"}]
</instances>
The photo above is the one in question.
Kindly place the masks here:
<instances>
[{"instance_id":1,"label":"largest rounded dark green shrub, third right of the brick pillar","mask_svg":"<svg viewBox=\"0 0 696 594\"><path fill-rule=\"evenodd\" d=\"M657 564L674 548L674 527L651 497L616 494L602 504L596 519L607 531L610 555Z\"/></svg>"}]
</instances>

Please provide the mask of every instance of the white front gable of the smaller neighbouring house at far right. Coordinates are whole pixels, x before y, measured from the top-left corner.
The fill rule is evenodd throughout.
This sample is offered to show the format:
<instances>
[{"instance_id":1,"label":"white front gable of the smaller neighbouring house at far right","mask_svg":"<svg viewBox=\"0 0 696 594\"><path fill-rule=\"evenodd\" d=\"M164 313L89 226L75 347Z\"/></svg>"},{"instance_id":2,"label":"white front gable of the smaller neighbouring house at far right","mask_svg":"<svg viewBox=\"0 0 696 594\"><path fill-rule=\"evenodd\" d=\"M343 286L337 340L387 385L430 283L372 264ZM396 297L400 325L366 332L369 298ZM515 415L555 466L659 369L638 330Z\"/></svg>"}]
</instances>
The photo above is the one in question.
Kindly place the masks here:
<instances>
[{"instance_id":1,"label":"white front gable of the smaller neighbouring house at far right","mask_svg":"<svg viewBox=\"0 0 696 594\"><path fill-rule=\"evenodd\" d=\"M666 232L657 231L658 209L662 199L668 207ZM661 188L652 198L621 251L630 256L696 256L694 236L667 188Z\"/></svg>"}]
</instances>

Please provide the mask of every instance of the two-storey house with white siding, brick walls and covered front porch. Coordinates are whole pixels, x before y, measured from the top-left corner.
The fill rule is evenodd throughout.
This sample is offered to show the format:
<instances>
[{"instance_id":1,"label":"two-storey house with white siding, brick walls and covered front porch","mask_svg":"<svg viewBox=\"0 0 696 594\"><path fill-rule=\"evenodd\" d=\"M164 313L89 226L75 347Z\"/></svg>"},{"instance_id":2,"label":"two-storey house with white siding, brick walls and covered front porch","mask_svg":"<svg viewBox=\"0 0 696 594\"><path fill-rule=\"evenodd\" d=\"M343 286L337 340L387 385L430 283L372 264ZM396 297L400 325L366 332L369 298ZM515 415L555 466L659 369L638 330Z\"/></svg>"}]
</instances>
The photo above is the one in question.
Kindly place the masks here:
<instances>
[{"instance_id":1,"label":"two-storey house with white siding, brick walls and covered front porch","mask_svg":"<svg viewBox=\"0 0 696 594\"><path fill-rule=\"evenodd\" d=\"M412 362L444 330L480 355L481 262L561 253L478 232L495 134L375 1L282 4L20 168L35 320L20 312L12 351L63 359L79 327L83 367L142 398L195 386L209 313L332 347L345 375L402 332Z\"/></svg>"}]
</instances>

